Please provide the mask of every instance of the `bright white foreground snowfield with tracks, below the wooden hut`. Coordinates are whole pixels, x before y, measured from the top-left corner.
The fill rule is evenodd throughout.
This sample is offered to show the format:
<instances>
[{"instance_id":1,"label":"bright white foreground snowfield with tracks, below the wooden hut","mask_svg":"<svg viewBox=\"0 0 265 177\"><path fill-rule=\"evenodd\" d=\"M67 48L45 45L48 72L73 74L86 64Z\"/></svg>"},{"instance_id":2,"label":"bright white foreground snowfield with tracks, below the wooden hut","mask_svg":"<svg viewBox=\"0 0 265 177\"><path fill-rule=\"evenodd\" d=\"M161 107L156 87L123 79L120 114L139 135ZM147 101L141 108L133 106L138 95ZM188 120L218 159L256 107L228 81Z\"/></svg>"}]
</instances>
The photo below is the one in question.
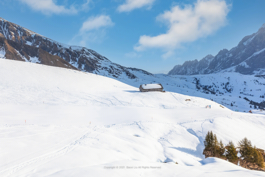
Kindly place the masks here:
<instances>
[{"instance_id":1,"label":"bright white foreground snowfield with tracks, below the wooden hut","mask_svg":"<svg viewBox=\"0 0 265 177\"><path fill-rule=\"evenodd\" d=\"M265 149L264 115L7 59L0 93L0 176L265 175L202 155L208 130L225 144L247 136Z\"/></svg>"}]
</instances>

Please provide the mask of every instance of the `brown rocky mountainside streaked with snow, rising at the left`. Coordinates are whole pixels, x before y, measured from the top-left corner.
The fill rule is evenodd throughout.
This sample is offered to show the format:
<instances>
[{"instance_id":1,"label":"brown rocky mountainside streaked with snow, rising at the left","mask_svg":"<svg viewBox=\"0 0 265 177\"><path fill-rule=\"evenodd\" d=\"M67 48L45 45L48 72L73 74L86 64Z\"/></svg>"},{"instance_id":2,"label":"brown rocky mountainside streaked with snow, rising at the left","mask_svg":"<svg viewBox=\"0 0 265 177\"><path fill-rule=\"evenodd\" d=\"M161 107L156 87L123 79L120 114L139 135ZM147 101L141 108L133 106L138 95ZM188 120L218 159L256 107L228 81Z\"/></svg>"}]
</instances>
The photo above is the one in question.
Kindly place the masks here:
<instances>
[{"instance_id":1,"label":"brown rocky mountainside streaked with snow, rising at the left","mask_svg":"<svg viewBox=\"0 0 265 177\"><path fill-rule=\"evenodd\" d=\"M0 18L0 58L92 72L112 78L136 79L136 68L109 61L93 50L65 45Z\"/></svg>"}]
</instances>

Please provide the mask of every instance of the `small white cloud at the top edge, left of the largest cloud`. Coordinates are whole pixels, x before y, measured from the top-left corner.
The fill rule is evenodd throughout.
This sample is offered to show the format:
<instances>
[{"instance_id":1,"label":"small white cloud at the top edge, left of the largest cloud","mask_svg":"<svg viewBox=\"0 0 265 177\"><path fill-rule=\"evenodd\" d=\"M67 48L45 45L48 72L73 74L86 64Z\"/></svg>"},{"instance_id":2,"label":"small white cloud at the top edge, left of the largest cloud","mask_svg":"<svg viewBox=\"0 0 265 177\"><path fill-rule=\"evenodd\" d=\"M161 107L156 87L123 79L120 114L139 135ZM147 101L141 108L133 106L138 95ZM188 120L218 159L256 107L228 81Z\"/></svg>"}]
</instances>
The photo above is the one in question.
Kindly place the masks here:
<instances>
[{"instance_id":1,"label":"small white cloud at the top edge, left of the largest cloud","mask_svg":"<svg viewBox=\"0 0 265 177\"><path fill-rule=\"evenodd\" d=\"M118 6L117 10L119 12L129 12L136 8L141 8L144 6L151 8L154 1L155 0L126 0L125 3Z\"/></svg>"}]
</instances>

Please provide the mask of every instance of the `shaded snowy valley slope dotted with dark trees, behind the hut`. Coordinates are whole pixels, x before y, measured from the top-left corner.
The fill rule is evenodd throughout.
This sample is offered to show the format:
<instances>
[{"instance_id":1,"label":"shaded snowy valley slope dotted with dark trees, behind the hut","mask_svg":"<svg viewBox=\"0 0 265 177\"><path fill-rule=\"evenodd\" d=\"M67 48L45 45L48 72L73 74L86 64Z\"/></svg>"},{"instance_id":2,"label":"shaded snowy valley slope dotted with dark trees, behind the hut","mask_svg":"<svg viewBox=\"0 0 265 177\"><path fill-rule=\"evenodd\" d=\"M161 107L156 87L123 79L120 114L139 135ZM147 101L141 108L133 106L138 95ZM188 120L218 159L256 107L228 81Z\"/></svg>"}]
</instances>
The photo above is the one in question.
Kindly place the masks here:
<instances>
[{"instance_id":1,"label":"shaded snowy valley slope dotted with dark trees, behind the hut","mask_svg":"<svg viewBox=\"0 0 265 177\"><path fill-rule=\"evenodd\" d=\"M265 79L263 77L235 72L192 76L145 75L138 72L133 74L137 76L137 79L119 80L134 87L139 87L141 84L161 83L166 91L212 99L231 110L248 112L253 109L254 106L250 108L250 102L245 100L245 97L258 103L265 101Z\"/></svg>"}]
</instances>

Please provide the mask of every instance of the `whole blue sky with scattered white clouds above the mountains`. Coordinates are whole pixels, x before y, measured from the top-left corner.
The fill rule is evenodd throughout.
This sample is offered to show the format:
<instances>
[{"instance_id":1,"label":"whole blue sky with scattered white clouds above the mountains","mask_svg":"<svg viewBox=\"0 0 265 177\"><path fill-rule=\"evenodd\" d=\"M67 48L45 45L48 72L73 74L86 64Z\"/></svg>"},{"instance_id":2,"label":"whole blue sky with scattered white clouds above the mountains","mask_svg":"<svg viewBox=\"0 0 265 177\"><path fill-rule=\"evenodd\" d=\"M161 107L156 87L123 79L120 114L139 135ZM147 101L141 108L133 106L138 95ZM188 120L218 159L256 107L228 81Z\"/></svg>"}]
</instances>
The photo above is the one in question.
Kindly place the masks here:
<instances>
[{"instance_id":1,"label":"whole blue sky with scattered white clouds above the mountains","mask_svg":"<svg viewBox=\"0 0 265 177\"><path fill-rule=\"evenodd\" d=\"M151 73L230 50L265 23L255 0L1 0L0 17Z\"/></svg>"}]
</instances>

